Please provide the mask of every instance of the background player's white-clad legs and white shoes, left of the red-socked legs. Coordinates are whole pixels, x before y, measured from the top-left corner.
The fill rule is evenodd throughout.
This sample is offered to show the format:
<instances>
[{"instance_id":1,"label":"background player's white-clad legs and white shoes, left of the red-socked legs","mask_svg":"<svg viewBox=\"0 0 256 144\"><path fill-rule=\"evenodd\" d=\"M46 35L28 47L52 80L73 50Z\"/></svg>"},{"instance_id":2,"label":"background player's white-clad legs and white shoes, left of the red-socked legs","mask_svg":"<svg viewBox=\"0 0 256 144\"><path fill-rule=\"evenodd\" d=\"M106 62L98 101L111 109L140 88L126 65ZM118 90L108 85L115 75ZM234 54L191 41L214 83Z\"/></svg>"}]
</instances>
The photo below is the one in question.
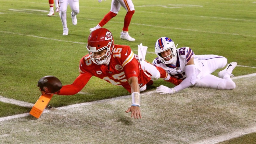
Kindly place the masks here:
<instances>
[{"instance_id":1,"label":"background player's white-clad legs and white shoes, left of the red-socked legs","mask_svg":"<svg viewBox=\"0 0 256 144\"><path fill-rule=\"evenodd\" d=\"M67 7L68 4L71 8L71 18L72 24L77 24L76 15L79 13L79 0L59 0L59 15L63 25L63 35L69 34L69 29L67 27Z\"/></svg>"}]
</instances>

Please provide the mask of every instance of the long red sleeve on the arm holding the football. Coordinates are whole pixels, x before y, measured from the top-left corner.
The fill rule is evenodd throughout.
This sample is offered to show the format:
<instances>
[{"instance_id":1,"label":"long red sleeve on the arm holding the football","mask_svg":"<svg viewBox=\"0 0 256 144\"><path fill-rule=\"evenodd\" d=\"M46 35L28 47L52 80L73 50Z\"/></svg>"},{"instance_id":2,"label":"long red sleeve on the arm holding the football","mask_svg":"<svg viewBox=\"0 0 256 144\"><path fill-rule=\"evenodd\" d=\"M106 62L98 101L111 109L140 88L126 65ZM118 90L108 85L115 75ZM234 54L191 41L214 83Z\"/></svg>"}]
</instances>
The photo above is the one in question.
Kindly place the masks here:
<instances>
[{"instance_id":1,"label":"long red sleeve on the arm holding the football","mask_svg":"<svg viewBox=\"0 0 256 144\"><path fill-rule=\"evenodd\" d=\"M55 94L58 95L74 95L77 94L83 87L87 84L89 79L92 77L89 73L80 74L75 81L71 85L63 86L58 92Z\"/></svg>"}]
</instances>

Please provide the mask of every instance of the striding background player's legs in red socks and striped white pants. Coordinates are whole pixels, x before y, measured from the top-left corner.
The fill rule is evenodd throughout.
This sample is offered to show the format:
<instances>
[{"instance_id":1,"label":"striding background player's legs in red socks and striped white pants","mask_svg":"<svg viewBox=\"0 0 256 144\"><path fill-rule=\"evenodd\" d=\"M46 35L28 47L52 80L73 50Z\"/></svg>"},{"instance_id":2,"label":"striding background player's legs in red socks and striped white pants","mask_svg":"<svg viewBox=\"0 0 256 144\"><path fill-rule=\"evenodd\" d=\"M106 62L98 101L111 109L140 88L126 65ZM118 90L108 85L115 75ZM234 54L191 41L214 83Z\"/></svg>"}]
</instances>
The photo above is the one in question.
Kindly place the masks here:
<instances>
[{"instance_id":1,"label":"striding background player's legs in red socks and striped white pants","mask_svg":"<svg viewBox=\"0 0 256 144\"><path fill-rule=\"evenodd\" d=\"M102 0L98 1L100 3ZM109 13L104 16L104 18L99 22L96 27L91 28L90 32L95 29L102 28L111 18L114 18L119 12L121 6L126 9L127 13L124 17L124 24L122 32L120 33L120 38L127 41L135 41L135 39L132 38L128 33L128 27L135 12L132 0L112 0Z\"/></svg>"}]
</instances>

